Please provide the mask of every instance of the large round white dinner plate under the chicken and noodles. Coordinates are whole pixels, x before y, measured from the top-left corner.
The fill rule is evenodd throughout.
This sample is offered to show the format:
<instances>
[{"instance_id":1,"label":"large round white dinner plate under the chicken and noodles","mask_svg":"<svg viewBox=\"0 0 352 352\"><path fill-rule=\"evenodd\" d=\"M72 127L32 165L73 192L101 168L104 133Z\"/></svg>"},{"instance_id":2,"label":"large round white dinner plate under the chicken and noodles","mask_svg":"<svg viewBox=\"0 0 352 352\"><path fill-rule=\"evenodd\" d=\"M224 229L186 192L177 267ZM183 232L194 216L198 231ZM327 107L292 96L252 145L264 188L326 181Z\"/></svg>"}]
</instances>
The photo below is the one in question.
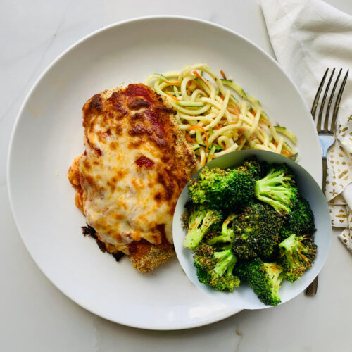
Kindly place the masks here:
<instances>
[{"instance_id":1,"label":"large round white dinner plate under the chicken and noodles","mask_svg":"<svg viewBox=\"0 0 352 352\"><path fill-rule=\"evenodd\" d=\"M229 308L200 294L176 259L150 275L115 263L84 238L68 167L83 151L82 105L107 88L149 73L206 62L225 70L299 139L301 165L321 179L318 137L308 108L277 63L239 34L203 20L154 17L99 30L43 73L15 123L8 191L18 230L39 268L64 294L108 320L146 329L183 329L226 318Z\"/></svg>"}]
</instances>

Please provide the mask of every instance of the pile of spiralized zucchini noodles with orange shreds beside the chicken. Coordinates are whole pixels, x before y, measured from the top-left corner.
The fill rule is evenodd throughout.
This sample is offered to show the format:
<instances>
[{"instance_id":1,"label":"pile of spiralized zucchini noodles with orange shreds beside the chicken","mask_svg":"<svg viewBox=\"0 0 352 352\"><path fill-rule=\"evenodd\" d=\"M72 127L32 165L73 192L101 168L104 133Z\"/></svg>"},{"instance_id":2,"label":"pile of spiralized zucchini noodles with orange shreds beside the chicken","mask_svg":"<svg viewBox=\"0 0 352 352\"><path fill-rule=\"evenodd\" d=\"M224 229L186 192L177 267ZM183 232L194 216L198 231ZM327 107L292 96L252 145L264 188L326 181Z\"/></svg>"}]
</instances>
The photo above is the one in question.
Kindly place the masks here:
<instances>
[{"instance_id":1,"label":"pile of spiralized zucchini noodles with orange shreds beside the chicken","mask_svg":"<svg viewBox=\"0 0 352 352\"><path fill-rule=\"evenodd\" d=\"M294 134L272 125L256 98L223 77L215 75L206 63L196 63L181 71L153 73L145 84L177 111L177 123L199 168L213 158L241 149L274 151L295 159Z\"/></svg>"}]
</instances>

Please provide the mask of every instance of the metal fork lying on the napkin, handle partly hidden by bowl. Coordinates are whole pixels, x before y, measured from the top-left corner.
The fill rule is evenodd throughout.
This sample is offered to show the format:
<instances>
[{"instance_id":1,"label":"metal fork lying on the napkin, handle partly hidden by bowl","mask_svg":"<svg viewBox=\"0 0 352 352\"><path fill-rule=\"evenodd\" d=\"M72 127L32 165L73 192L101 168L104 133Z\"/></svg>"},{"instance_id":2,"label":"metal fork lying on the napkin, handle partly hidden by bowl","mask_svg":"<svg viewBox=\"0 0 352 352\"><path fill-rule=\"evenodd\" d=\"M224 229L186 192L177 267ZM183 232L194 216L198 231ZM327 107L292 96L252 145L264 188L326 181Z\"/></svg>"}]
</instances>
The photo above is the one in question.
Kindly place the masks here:
<instances>
[{"instance_id":1,"label":"metal fork lying on the napkin, handle partly hidden by bowl","mask_svg":"<svg viewBox=\"0 0 352 352\"><path fill-rule=\"evenodd\" d=\"M316 120L315 113L318 108L320 94L322 92L322 88L324 87L324 83L325 83L325 79L327 77L328 71L329 71L329 68L327 68L324 75L322 76L322 81L319 84L318 92L317 92L317 94L315 94L312 110L310 111L314 121ZM341 72L342 72L342 68L339 70L339 74L337 75L337 78L334 82L334 86L332 87L332 91L329 96L329 101L327 103L325 117L324 117L324 120L322 120L323 110L325 107L325 101L327 99L327 94L329 93L329 87L332 82L332 77L334 77L335 68L332 70L332 73L329 77L329 81L327 82L327 86L325 88L325 92L322 96L322 102L320 104L320 110L319 110L318 120L317 120L317 131L318 131L318 137L319 137L319 142L320 142L320 149L322 152L322 193L324 193L324 194L325 194L325 185L326 185L325 183L327 180L327 151L335 142L337 113L339 111L341 96L342 96L342 93L344 92L344 87L345 87L346 80L348 77L348 70L347 70L346 75L344 77L344 80L342 81L339 92L337 94L337 98L336 98L335 105L334 105L334 111L332 113L332 120L331 120L331 123L329 126L330 108L332 106L332 100L334 99L335 90L337 88L337 84L339 82ZM314 296L317 293L317 289L318 289L318 276L315 277L314 281L307 287L306 295L307 296Z\"/></svg>"}]
</instances>

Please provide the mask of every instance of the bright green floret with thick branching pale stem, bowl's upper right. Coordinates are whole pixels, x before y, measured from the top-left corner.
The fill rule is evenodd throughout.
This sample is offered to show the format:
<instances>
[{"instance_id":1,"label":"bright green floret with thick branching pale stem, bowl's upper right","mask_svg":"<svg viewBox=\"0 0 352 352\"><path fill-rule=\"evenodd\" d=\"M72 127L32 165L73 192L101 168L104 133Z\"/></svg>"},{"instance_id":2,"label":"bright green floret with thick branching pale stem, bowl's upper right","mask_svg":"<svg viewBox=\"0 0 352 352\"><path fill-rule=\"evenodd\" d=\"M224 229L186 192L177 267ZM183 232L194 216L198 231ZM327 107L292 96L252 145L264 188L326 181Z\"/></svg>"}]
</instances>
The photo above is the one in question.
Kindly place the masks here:
<instances>
[{"instance_id":1,"label":"bright green floret with thick branching pale stem, bowl's upper right","mask_svg":"<svg viewBox=\"0 0 352 352\"><path fill-rule=\"evenodd\" d=\"M295 177L285 164L272 165L268 175L256 181L256 198L287 215L298 196Z\"/></svg>"}]
</instances>

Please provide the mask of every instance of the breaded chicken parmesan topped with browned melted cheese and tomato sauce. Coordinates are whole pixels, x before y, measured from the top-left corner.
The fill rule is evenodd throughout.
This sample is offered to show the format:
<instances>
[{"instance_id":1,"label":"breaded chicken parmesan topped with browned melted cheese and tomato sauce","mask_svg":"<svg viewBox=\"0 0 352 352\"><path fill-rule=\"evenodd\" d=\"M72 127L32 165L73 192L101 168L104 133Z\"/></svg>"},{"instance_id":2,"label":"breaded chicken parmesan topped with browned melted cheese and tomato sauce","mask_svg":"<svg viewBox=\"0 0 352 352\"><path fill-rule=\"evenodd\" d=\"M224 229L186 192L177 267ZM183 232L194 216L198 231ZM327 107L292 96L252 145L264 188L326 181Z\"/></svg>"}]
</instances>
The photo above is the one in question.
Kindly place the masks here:
<instances>
[{"instance_id":1,"label":"breaded chicken parmesan topped with browned melted cheese and tomato sauce","mask_svg":"<svg viewBox=\"0 0 352 352\"><path fill-rule=\"evenodd\" d=\"M174 254L172 216L196 171L174 115L144 84L95 94L83 106L85 151L69 170L100 248L125 253L141 272Z\"/></svg>"}]
</instances>

